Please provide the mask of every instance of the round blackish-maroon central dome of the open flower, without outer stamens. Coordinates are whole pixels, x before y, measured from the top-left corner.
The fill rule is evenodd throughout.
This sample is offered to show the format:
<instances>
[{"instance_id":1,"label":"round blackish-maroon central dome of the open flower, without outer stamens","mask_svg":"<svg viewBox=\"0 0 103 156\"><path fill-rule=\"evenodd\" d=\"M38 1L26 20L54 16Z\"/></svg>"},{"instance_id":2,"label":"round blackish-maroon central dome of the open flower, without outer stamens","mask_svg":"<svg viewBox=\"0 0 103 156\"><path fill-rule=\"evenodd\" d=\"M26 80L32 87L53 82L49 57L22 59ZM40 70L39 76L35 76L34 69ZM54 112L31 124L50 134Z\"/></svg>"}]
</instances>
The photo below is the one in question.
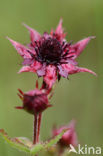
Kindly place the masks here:
<instances>
[{"instance_id":1,"label":"round blackish-maroon central dome of the open flower, without outer stamens","mask_svg":"<svg viewBox=\"0 0 103 156\"><path fill-rule=\"evenodd\" d=\"M37 60L46 64L58 64L63 53L61 44L55 38L44 40L37 51Z\"/></svg>"}]
</instances>

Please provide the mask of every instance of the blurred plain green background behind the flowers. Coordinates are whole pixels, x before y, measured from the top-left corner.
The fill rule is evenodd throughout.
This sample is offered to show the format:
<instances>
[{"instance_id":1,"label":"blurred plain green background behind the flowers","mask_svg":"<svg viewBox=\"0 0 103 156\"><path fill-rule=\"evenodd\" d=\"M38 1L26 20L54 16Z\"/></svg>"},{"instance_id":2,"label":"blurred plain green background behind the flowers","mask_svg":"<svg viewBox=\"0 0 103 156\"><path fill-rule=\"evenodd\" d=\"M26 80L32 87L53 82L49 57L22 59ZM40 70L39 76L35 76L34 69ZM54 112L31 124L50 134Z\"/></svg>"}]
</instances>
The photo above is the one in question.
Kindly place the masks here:
<instances>
[{"instance_id":1,"label":"blurred plain green background behind the flowers","mask_svg":"<svg viewBox=\"0 0 103 156\"><path fill-rule=\"evenodd\" d=\"M21 105L17 89L33 89L37 79L32 73L17 74L22 59L5 37L28 43L29 34L22 22L43 33L55 28L61 17L68 41L96 36L78 62L98 77L80 73L60 81L51 100L54 107L44 113L41 139L48 139L54 123L59 126L76 119L80 144L102 146L103 0L0 0L0 128L12 137L32 138L33 117L14 107ZM26 154L12 149L0 138L0 156L14 155Z\"/></svg>"}]
</instances>

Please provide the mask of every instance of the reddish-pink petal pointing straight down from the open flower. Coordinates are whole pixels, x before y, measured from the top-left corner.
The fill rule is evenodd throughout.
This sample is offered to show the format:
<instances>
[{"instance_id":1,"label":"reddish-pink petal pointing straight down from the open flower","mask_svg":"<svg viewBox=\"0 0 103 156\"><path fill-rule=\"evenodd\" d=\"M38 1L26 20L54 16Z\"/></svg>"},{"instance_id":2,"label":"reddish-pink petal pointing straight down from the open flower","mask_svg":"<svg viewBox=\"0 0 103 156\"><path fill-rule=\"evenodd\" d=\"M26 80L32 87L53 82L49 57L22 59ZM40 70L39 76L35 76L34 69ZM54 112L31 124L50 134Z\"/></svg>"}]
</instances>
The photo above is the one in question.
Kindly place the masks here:
<instances>
[{"instance_id":1,"label":"reddish-pink petal pointing straight down from the open flower","mask_svg":"<svg viewBox=\"0 0 103 156\"><path fill-rule=\"evenodd\" d=\"M57 79L56 68L52 65L46 67L46 75L44 76L44 82L51 88Z\"/></svg>"}]
</instances>

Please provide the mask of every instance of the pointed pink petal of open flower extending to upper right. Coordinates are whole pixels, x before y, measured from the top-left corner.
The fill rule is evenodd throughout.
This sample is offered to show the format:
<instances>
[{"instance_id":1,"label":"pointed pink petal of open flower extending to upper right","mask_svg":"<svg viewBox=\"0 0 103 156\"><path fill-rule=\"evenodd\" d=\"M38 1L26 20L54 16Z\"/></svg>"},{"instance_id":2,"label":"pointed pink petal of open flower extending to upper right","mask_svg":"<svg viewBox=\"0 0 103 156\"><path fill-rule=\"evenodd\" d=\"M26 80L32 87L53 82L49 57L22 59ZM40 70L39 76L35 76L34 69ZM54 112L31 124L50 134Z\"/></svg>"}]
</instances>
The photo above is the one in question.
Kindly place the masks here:
<instances>
[{"instance_id":1,"label":"pointed pink petal of open flower extending to upper right","mask_svg":"<svg viewBox=\"0 0 103 156\"><path fill-rule=\"evenodd\" d=\"M89 41L94 38L95 38L94 36L91 36L72 45L71 48L74 49L75 51L74 58L78 57L81 54L81 52L86 48Z\"/></svg>"}]
</instances>

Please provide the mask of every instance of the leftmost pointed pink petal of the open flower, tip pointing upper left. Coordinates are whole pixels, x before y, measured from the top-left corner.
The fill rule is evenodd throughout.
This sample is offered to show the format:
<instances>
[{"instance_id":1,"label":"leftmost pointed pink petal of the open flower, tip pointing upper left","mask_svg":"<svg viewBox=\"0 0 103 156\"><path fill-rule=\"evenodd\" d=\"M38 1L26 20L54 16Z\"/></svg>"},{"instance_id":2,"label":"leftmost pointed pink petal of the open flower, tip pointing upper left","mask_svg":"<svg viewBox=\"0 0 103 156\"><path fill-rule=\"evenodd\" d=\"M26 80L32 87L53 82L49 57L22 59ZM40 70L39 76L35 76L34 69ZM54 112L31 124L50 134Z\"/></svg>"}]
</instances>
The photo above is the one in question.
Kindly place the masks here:
<instances>
[{"instance_id":1,"label":"leftmost pointed pink petal of the open flower, tip pointing upper left","mask_svg":"<svg viewBox=\"0 0 103 156\"><path fill-rule=\"evenodd\" d=\"M21 45L20 43L13 41L12 39L8 38L7 39L12 43L14 48L17 50L17 52L25 59L25 58L31 58L30 53L34 54L33 51L30 49L26 48L24 45Z\"/></svg>"}]
</instances>

